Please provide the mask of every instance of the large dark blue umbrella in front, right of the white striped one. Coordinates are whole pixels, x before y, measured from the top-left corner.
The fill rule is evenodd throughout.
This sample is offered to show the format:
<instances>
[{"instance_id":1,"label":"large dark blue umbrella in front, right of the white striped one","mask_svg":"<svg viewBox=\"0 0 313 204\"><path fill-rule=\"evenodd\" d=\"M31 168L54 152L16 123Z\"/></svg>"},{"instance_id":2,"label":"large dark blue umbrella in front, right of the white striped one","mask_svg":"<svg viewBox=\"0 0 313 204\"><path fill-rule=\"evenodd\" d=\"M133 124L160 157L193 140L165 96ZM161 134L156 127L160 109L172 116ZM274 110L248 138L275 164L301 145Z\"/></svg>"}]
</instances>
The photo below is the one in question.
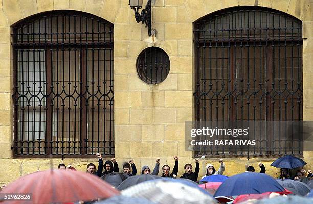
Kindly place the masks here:
<instances>
[{"instance_id":1,"label":"large dark blue umbrella in front, right of the white striped one","mask_svg":"<svg viewBox=\"0 0 313 204\"><path fill-rule=\"evenodd\" d=\"M229 177L214 194L216 196L235 196L281 192L285 189L271 176L264 173L241 173Z\"/></svg>"}]
</instances>

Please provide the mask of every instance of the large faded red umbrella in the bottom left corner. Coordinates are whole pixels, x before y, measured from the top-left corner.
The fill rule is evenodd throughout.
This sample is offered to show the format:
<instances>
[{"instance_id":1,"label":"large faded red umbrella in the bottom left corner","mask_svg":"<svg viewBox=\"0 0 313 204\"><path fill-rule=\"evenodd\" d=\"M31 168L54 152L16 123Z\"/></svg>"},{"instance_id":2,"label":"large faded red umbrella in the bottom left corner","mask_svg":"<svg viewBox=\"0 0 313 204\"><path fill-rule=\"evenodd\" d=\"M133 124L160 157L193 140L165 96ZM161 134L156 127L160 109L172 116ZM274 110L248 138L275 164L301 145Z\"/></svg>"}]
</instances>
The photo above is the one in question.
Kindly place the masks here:
<instances>
[{"instance_id":1,"label":"large faded red umbrella in the bottom left corner","mask_svg":"<svg viewBox=\"0 0 313 204\"><path fill-rule=\"evenodd\" d=\"M120 194L95 175L72 170L38 171L20 177L1 193L32 194L32 200L4 200L3 203L64 203L104 199ZM1 202L2 200L0 200Z\"/></svg>"}]
</instances>

